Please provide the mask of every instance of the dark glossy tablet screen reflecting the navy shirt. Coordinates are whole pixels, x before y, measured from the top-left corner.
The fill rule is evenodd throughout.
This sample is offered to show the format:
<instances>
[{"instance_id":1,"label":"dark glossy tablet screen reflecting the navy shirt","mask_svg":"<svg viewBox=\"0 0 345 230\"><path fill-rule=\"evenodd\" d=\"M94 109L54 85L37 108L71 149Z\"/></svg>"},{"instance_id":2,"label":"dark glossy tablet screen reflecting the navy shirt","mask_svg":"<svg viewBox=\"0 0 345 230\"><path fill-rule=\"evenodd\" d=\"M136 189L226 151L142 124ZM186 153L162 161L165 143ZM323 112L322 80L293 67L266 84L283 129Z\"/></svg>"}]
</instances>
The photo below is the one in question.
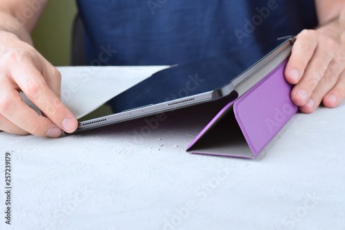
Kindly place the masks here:
<instances>
[{"instance_id":1,"label":"dark glossy tablet screen reflecting the navy shirt","mask_svg":"<svg viewBox=\"0 0 345 230\"><path fill-rule=\"evenodd\" d=\"M274 39L264 44L224 51L161 70L112 98L107 103L112 111L97 117L222 88L285 41L286 39ZM84 117L81 121L97 117Z\"/></svg>"}]
</instances>

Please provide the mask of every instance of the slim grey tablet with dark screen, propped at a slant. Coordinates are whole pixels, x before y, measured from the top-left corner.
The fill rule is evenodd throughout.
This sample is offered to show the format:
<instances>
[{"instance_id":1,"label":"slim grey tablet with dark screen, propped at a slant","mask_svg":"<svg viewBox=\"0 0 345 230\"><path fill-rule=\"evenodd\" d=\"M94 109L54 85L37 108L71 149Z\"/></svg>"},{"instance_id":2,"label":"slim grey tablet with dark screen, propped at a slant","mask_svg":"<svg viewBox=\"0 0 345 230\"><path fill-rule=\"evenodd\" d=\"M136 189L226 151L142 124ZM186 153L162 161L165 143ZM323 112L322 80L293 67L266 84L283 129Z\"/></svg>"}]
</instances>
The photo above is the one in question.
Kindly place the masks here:
<instances>
[{"instance_id":1,"label":"slim grey tablet with dark screen, propped at a slant","mask_svg":"<svg viewBox=\"0 0 345 230\"><path fill-rule=\"evenodd\" d=\"M288 36L246 48L224 50L161 70L112 98L108 102L112 111L108 114L79 119L76 132L228 95L239 97L290 55L294 39Z\"/></svg>"}]
</instances>

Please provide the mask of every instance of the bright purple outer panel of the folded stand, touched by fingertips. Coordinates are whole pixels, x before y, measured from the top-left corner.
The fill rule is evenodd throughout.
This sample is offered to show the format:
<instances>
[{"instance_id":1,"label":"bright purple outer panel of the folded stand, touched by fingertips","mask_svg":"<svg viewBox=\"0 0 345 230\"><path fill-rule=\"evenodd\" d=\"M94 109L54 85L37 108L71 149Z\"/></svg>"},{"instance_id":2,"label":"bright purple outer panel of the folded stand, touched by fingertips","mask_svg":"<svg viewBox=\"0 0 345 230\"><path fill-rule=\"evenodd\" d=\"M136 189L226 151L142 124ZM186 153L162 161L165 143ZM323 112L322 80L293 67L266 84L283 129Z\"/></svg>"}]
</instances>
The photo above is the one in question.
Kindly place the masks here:
<instances>
[{"instance_id":1,"label":"bright purple outer panel of the folded stand, touched by fingertips","mask_svg":"<svg viewBox=\"0 0 345 230\"><path fill-rule=\"evenodd\" d=\"M298 111L290 99L292 86L284 78L287 61L234 103L234 113L255 157Z\"/></svg>"}]
</instances>

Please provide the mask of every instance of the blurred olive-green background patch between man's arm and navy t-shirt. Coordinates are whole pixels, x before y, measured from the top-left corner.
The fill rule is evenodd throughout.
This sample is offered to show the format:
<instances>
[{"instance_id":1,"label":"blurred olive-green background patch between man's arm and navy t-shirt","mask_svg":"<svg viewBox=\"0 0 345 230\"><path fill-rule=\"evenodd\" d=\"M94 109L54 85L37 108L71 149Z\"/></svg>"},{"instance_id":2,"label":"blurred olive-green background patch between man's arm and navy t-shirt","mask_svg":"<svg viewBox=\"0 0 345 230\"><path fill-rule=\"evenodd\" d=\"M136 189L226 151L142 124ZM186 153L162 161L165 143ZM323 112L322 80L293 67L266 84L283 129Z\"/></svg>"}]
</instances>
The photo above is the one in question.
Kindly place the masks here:
<instances>
[{"instance_id":1,"label":"blurred olive-green background patch between man's arm and navy t-shirt","mask_svg":"<svg viewBox=\"0 0 345 230\"><path fill-rule=\"evenodd\" d=\"M74 0L50 0L32 32L35 48L54 66L70 66L75 15L77 5Z\"/></svg>"}]
</instances>

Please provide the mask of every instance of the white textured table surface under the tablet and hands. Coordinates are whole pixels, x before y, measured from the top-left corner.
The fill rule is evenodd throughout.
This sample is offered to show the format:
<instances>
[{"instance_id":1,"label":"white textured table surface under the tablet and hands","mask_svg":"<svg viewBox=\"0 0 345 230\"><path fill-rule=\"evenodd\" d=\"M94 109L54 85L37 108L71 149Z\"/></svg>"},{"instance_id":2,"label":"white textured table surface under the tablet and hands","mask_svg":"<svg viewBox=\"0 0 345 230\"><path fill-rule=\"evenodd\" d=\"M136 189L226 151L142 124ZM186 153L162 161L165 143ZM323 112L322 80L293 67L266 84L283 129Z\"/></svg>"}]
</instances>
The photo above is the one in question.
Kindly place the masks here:
<instances>
[{"instance_id":1,"label":"white textured table surface under the tablet and hands","mask_svg":"<svg viewBox=\"0 0 345 230\"><path fill-rule=\"evenodd\" d=\"M90 82L119 69L133 70L99 68ZM298 113L256 160L186 153L219 108L169 112L150 129L154 117L59 139L0 133L1 191L6 153L12 166L0 229L345 229L345 103Z\"/></svg>"}]
</instances>

